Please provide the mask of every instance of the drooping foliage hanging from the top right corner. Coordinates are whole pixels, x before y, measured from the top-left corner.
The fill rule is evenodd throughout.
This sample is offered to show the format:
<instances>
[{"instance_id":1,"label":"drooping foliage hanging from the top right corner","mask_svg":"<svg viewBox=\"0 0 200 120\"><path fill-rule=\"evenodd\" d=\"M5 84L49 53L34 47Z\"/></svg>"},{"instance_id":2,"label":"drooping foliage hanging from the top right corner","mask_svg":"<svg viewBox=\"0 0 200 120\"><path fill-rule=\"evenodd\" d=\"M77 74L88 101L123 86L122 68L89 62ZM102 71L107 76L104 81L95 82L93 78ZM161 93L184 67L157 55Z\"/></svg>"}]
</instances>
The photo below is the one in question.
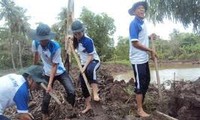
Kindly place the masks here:
<instances>
[{"instance_id":1,"label":"drooping foliage hanging from the top right corner","mask_svg":"<svg viewBox=\"0 0 200 120\"><path fill-rule=\"evenodd\" d=\"M181 22L185 27L193 25L200 32L199 0L146 0L149 3L148 19L163 22L164 18Z\"/></svg>"}]
</instances>

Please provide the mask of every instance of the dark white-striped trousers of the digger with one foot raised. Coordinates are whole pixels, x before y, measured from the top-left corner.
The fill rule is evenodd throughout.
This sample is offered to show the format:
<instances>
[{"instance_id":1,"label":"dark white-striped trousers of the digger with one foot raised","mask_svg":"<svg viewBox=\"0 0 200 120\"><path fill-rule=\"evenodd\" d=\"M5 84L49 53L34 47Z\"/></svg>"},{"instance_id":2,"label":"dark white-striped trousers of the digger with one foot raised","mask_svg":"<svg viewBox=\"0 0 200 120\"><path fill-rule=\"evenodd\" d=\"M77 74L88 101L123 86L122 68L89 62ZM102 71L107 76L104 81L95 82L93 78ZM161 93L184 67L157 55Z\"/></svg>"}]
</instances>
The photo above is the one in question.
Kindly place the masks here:
<instances>
[{"instance_id":1,"label":"dark white-striped trousers of the digger with one foot raised","mask_svg":"<svg viewBox=\"0 0 200 120\"><path fill-rule=\"evenodd\" d=\"M96 77L96 71L100 67L100 62L98 60L93 60L89 63L89 65L86 68L85 75L88 79L88 82L91 83L98 83L97 82L97 77ZM80 74L79 75L79 80L81 82L81 89L82 89L82 95L84 98L87 98L90 96L90 93L87 89L87 86L85 84L85 81L83 79L83 76Z\"/></svg>"}]
</instances>

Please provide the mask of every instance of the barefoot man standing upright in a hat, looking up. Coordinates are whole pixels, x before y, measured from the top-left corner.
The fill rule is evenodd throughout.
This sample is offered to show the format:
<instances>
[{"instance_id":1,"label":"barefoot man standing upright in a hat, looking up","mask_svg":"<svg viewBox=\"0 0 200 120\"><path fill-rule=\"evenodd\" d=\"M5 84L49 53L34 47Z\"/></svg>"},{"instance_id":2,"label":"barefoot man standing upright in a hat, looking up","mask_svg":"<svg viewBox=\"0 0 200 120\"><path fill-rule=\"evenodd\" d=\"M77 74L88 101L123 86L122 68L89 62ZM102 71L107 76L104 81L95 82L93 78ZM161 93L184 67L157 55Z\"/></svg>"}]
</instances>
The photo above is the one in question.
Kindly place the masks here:
<instances>
[{"instance_id":1,"label":"barefoot man standing upright in a hat, looking up","mask_svg":"<svg viewBox=\"0 0 200 120\"><path fill-rule=\"evenodd\" d=\"M144 21L147 6L146 2L137 2L128 11L131 16L135 16L129 26L129 58L135 76L137 113L141 117L149 116L142 107L150 83L149 54L153 60L157 57L155 51L149 48L147 28Z\"/></svg>"}]
</instances>

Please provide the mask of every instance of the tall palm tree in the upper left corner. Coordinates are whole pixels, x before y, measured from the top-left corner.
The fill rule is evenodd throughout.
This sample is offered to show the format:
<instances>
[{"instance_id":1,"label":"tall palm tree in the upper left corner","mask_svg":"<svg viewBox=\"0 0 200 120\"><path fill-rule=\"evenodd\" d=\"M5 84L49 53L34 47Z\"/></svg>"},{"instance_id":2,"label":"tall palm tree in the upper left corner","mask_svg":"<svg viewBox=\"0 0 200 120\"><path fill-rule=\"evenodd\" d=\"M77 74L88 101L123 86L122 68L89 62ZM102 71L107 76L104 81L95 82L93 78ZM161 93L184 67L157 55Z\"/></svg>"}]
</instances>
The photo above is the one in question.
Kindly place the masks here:
<instances>
[{"instance_id":1,"label":"tall palm tree in the upper left corner","mask_svg":"<svg viewBox=\"0 0 200 120\"><path fill-rule=\"evenodd\" d=\"M23 43L23 40L20 40L18 38L21 38L19 36L25 36L26 32L29 29L29 24L27 22L28 17L25 16L26 10L24 10L21 7L18 7L15 5L15 3L11 0L1 0L0 1L0 20L4 18L5 25L9 29L8 34L8 40L10 46L10 55L12 59L12 65L13 69L16 69L15 64L15 55L19 55L19 64L20 67L22 66L22 50L21 50L21 43ZM16 52L15 45L18 45L18 54L14 54ZM17 60L17 59L16 59Z\"/></svg>"}]
</instances>

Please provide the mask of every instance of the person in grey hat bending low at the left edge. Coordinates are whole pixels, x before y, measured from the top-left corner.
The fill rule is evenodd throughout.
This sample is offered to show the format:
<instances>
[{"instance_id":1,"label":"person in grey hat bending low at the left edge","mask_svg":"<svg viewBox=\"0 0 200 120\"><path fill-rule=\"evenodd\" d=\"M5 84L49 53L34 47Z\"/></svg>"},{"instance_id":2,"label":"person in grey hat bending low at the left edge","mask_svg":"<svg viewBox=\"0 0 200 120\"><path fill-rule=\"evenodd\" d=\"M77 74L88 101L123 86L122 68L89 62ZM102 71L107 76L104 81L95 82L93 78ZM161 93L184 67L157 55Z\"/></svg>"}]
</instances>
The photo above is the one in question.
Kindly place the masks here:
<instances>
[{"instance_id":1,"label":"person in grey hat bending low at the left edge","mask_svg":"<svg viewBox=\"0 0 200 120\"><path fill-rule=\"evenodd\" d=\"M19 120L33 120L28 111L29 90L39 86L37 81L42 81L42 67L30 66L22 75L11 73L0 77L0 120L11 120L3 115L6 108L16 105Z\"/></svg>"}]
</instances>

